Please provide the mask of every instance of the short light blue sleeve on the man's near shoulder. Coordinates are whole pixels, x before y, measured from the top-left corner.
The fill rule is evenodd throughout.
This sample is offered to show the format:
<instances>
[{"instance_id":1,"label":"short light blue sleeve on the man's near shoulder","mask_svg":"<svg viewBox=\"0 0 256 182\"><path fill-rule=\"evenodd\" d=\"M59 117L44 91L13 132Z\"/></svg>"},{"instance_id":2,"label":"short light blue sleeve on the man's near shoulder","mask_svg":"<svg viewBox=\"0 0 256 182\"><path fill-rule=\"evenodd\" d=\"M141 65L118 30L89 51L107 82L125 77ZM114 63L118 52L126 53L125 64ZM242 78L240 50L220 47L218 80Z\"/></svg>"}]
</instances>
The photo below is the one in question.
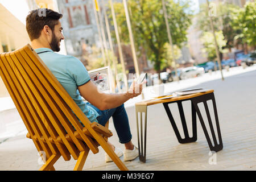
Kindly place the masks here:
<instances>
[{"instance_id":1,"label":"short light blue sleeve on the man's near shoulder","mask_svg":"<svg viewBox=\"0 0 256 182\"><path fill-rule=\"evenodd\" d=\"M90 76L84 64L76 57L69 57L66 65L67 73L76 82L77 86L81 86L90 81Z\"/></svg>"}]
</instances>

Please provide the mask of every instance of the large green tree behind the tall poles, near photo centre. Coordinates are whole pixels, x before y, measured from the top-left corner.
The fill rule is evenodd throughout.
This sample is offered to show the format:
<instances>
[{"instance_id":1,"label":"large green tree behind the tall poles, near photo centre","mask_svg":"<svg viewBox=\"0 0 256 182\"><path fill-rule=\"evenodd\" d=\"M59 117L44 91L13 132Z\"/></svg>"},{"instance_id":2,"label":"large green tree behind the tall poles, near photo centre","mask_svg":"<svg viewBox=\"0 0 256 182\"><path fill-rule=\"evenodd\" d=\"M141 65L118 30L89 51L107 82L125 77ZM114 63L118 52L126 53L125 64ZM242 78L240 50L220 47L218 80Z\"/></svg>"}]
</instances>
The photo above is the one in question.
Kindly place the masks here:
<instances>
[{"instance_id":1,"label":"large green tree behind the tall poles, near photo centre","mask_svg":"<svg viewBox=\"0 0 256 182\"><path fill-rule=\"evenodd\" d=\"M140 47L147 49L148 59L154 63L155 70L160 72L165 61L164 44L168 42L162 3L159 0L129 0L128 7L137 51L141 53ZM181 43L187 41L187 28L191 25L192 12L188 7L189 1L178 3L166 0L172 41L179 48ZM122 42L129 43L129 32L122 3L115 2L114 9ZM108 14L112 19L111 13Z\"/></svg>"}]
</instances>

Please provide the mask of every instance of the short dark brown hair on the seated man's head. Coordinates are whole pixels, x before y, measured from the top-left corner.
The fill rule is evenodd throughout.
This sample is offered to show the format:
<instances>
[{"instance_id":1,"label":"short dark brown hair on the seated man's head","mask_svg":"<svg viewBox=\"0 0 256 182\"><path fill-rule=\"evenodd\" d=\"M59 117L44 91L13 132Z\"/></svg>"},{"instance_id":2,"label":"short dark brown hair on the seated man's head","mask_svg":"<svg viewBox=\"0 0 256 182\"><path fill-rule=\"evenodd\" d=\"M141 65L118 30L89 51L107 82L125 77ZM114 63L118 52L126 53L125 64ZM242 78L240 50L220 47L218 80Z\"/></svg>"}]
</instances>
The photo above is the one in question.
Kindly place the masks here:
<instances>
[{"instance_id":1,"label":"short dark brown hair on the seated man's head","mask_svg":"<svg viewBox=\"0 0 256 182\"><path fill-rule=\"evenodd\" d=\"M30 11L26 18L26 29L30 40L38 39L46 25L53 31L60 18L62 18L62 14L50 9Z\"/></svg>"}]
</instances>

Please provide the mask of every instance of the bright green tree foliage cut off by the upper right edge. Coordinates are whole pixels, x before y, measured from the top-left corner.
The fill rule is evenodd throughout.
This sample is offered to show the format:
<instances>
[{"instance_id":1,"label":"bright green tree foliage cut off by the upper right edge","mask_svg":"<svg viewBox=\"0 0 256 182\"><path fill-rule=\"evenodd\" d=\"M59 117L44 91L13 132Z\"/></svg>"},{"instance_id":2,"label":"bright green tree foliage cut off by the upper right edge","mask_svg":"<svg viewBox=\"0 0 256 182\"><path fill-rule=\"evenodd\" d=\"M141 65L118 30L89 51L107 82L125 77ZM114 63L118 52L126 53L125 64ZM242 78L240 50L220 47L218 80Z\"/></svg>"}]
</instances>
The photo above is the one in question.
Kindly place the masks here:
<instances>
[{"instance_id":1,"label":"bright green tree foliage cut off by the upper right edge","mask_svg":"<svg viewBox=\"0 0 256 182\"><path fill-rule=\"evenodd\" d=\"M239 32L234 39L241 39L242 43L246 43L249 46L253 46L254 48L256 44L255 14L256 3L247 2L242 9L235 9L232 16L232 25L234 27L234 30L237 30Z\"/></svg>"}]
</instances>

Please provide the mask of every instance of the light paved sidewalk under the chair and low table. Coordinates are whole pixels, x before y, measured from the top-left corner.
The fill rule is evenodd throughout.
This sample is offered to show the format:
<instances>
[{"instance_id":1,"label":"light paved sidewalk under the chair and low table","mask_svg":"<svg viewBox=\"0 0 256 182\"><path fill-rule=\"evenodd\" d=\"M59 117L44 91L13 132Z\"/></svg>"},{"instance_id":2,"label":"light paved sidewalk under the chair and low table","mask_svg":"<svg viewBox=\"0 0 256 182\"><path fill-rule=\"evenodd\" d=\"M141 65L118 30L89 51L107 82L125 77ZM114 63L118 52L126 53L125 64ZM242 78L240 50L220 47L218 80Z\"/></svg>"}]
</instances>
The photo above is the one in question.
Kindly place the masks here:
<instances>
[{"instance_id":1,"label":"light paved sidewalk under the chair and low table","mask_svg":"<svg viewBox=\"0 0 256 182\"><path fill-rule=\"evenodd\" d=\"M255 67L255 65L254 65ZM252 68L251 68L252 69ZM130 170L255 170L256 169L256 71L203 82L193 87L214 89L218 118L224 148L216 154L209 153L200 122L197 122L197 141L180 144L168 121L163 105L148 107L147 160L125 162ZM196 78L195 79L196 82ZM190 82L193 82L193 79ZM171 86L171 84L169 85ZM168 88L167 89L174 89ZM189 112L189 104L184 111ZM171 107L172 108L172 107ZM210 107L211 108L211 107ZM126 107L131 124L133 142L137 144L135 107ZM155 113L158 113L157 115ZM174 117L179 114L172 108ZM162 116L162 117L159 117ZM189 117L189 114L186 115ZM198 121L198 120L197 120ZM178 127L181 124L177 124ZM113 137L110 142L120 148L113 122L110 121ZM192 126L188 123L188 129ZM182 136L182 135L181 135ZM84 170L118 170L114 163L105 163L104 151L89 153ZM216 159L216 160L210 160ZM0 170L38 170L39 155L32 140L25 135L10 138L0 144ZM123 156L121 157L123 160ZM209 161L210 160L210 161ZM216 163L214 163L216 162ZM55 164L57 170L72 170L76 161L65 162L62 158Z\"/></svg>"}]
</instances>

